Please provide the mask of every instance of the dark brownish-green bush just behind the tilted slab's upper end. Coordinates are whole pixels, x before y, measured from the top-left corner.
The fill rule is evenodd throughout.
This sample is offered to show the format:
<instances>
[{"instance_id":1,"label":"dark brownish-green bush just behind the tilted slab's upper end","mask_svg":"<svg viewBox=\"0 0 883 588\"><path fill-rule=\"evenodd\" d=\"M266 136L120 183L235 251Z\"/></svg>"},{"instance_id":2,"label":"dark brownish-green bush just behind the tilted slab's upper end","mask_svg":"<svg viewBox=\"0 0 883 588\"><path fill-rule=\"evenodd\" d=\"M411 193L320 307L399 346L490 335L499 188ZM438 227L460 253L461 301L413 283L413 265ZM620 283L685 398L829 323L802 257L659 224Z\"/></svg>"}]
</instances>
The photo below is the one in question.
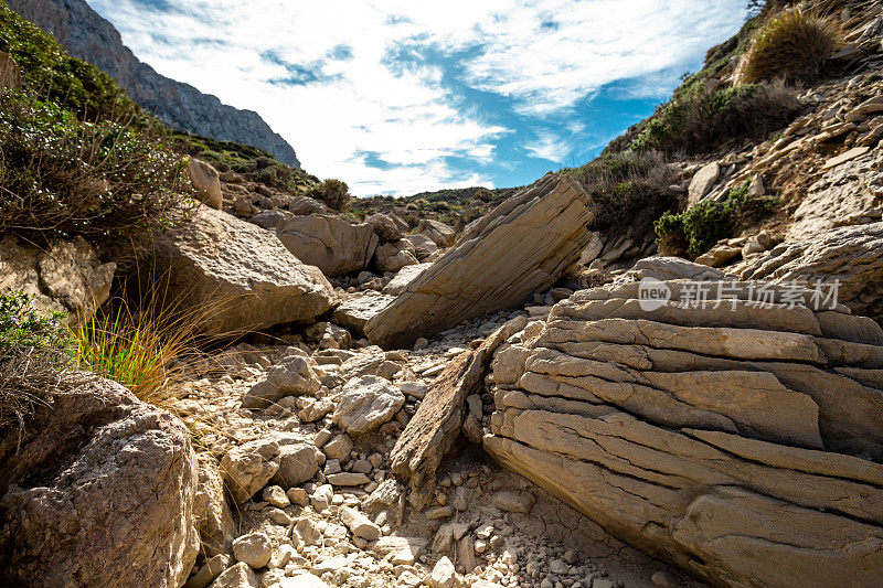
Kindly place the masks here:
<instances>
[{"instance_id":1,"label":"dark brownish-green bush just behind the tilted slab's upper end","mask_svg":"<svg viewBox=\"0 0 883 588\"><path fill-rule=\"evenodd\" d=\"M592 196L593 231L625 233L634 226L640 235L680 203L680 193L670 189L678 173L659 151L608 153L568 173Z\"/></svg>"}]
</instances>

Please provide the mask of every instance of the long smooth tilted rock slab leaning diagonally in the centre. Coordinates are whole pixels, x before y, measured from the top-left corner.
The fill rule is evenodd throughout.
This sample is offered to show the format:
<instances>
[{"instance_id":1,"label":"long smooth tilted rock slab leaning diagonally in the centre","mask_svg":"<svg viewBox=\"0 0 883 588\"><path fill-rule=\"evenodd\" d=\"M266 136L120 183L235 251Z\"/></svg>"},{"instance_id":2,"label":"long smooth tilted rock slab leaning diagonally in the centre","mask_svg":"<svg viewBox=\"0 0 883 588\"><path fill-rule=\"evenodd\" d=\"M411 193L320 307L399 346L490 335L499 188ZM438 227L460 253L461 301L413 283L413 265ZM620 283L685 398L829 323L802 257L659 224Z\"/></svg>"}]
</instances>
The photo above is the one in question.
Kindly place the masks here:
<instances>
[{"instance_id":1,"label":"long smooth tilted rock slab leaning diagonally in the centre","mask_svg":"<svg viewBox=\"0 0 883 588\"><path fill-rule=\"evenodd\" d=\"M588 243L592 218L588 194L575 181L546 175L476 222L409 282L365 324L369 341L411 346L551 287Z\"/></svg>"}]
</instances>

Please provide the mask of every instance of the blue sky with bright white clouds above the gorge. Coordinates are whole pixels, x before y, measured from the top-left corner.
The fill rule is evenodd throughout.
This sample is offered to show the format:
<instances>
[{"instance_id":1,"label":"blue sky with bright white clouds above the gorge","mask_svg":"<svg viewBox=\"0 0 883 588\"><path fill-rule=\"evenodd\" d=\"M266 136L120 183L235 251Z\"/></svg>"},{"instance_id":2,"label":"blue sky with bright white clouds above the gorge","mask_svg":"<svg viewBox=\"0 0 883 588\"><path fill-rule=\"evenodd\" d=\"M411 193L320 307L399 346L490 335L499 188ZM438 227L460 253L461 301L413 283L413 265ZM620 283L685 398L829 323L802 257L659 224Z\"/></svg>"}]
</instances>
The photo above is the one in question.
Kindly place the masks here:
<instances>
[{"instance_id":1,"label":"blue sky with bright white clouds above the gorge","mask_svg":"<svg viewBox=\"0 0 883 588\"><path fill-rule=\"evenodd\" d=\"M744 0L87 0L357 195L529 183L652 113Z\"/></svg>"}]
</instances>

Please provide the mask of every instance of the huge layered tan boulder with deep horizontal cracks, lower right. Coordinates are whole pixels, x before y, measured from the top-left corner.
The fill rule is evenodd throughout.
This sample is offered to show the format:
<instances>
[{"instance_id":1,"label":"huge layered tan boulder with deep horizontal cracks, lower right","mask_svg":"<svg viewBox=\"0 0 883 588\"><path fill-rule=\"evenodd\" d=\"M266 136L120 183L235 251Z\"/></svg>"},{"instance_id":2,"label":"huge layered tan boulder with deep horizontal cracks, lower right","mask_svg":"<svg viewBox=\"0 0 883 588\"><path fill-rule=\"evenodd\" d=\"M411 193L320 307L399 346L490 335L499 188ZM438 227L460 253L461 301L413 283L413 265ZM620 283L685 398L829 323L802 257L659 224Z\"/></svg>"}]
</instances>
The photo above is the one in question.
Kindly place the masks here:
<instances>
[{"instance_id":1,"label":"huge layered tan boulder with deep horizontal cracks, lower right","mask_svg":"<svg viewBox=\"0 0 883 588\"><path fill-rule=\"evenodd\" d=\"M486 450L714 585L879 581L883 330L786 285L662 284L576 292L500 345ZM728 298L683 308L698 284Z\"/></svg>"}]
</instances>

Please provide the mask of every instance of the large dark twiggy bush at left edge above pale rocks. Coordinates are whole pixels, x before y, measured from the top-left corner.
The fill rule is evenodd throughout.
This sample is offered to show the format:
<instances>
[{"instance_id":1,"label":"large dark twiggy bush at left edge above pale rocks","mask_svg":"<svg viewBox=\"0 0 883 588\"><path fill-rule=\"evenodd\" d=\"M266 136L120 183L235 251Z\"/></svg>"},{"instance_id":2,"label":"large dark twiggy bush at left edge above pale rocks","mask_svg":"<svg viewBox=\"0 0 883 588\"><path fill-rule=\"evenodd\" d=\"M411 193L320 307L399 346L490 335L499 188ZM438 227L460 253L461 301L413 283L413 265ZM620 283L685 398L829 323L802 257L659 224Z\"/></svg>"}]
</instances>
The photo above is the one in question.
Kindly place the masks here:
<instances>
[{"instance_id":1,"label":"large dark twiggy bush at left edge above pale rocks","mask_svg":"<svg viewBox=\"0 0 883 588\"><path fill-rule=\"evenodd\" d=\"M51 101L0 96L0 234L128 244L185 207L184 161L162 138Z\"/></svg>"}]
</instances>

